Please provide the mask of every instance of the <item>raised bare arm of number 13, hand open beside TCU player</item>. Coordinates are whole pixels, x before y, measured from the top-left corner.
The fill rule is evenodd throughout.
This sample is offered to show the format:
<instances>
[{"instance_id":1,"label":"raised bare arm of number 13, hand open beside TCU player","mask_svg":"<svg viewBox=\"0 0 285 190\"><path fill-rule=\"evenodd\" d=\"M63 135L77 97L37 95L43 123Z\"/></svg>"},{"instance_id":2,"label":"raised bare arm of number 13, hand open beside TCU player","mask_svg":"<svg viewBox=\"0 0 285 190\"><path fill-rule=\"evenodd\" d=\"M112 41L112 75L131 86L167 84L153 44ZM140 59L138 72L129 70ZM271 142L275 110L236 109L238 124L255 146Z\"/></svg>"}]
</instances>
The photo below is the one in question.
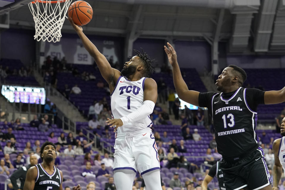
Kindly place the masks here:
<instances>
[{"instance_id":1,"label":"raised bare arm of number 13, hand open beside TCU player","mask_svg":"<svg viewBox=\"0 0 285 190\"><path fill-rule=\"evenodd\" d=\"M176 52L170 43L167 42L167 45L169 49L164 46L164 50L170 64L172 65L173 82L178 97L185 102L199 106L199 92L188 89L179 69Z\"/></svg>"}]
</instances>

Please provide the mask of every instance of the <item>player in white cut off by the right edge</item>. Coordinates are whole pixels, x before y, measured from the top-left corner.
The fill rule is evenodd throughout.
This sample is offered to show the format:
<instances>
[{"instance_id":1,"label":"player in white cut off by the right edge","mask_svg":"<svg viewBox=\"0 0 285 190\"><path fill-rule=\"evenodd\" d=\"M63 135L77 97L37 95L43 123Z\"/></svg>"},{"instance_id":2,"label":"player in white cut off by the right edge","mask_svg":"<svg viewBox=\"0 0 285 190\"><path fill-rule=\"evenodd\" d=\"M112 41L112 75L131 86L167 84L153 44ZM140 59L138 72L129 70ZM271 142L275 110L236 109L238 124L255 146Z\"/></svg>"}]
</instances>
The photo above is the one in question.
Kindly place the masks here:
<instances>
[{"instance_id":1,"label":"player in white cut off by the right edge","mask_svg":"<svg viewBox=\"0 0 285 190\"><path fill-rule=\"evenodd\" d=\"M285 117L282 119L280 134L283 136L273 142L274 166L273 166L273 188L278 190L278 184L282 175L282 168L285 173Z\"/></svg>"}]
</instances>

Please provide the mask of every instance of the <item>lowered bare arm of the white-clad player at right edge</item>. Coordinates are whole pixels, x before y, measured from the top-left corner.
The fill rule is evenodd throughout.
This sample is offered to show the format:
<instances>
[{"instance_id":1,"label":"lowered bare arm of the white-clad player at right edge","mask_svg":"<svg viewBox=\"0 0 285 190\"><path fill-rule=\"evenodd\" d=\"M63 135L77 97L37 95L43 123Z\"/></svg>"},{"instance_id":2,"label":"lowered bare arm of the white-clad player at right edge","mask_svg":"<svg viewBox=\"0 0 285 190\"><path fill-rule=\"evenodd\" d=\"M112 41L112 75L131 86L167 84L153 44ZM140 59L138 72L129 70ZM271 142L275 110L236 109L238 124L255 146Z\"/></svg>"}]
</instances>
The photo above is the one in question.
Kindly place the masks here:
<instances>
[{"instance_id":1,"label":"lowered bare arm of the white-clad player at right edge","mask_svg":"<svg viewBox=\"0 0 285 190\"><path fill-rule=\"evenodd\" d=\"M280 160L279 160L279 156L278 156L278 153L279 153L279 145L280 145L280 142L281 139L276 139L274 142L273 142L273 146L272 146L272 149L273 149L273 152L274 152L274 166L273 166L273 190L278 190L278 183L280 181L280 178L281 178L281 175L282 175L282 165L280 163Z\"/></svg>"}]
</instances>

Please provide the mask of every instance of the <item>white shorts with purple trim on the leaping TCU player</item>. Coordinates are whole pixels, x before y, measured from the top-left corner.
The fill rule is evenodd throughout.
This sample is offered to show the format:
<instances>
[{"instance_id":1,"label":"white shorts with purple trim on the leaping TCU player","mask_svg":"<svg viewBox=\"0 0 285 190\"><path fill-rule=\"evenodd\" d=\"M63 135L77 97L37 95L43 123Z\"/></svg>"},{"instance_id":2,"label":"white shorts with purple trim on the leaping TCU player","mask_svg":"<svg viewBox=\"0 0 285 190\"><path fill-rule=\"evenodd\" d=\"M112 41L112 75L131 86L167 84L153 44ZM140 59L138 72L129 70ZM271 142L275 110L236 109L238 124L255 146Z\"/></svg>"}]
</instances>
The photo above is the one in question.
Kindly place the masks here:
<instances>
[{"instance_id":1,"label":"white shorts with purple trim on the leaping TCU player","mask_svg":"<svg viewBox=\"0 0 285 190\"><path fill-rule=\"evenodd\" d=\"M116 134L115 170L139 171L141 175L160 170L158 151L150 128Z\"/></svg>"}]
</instances>

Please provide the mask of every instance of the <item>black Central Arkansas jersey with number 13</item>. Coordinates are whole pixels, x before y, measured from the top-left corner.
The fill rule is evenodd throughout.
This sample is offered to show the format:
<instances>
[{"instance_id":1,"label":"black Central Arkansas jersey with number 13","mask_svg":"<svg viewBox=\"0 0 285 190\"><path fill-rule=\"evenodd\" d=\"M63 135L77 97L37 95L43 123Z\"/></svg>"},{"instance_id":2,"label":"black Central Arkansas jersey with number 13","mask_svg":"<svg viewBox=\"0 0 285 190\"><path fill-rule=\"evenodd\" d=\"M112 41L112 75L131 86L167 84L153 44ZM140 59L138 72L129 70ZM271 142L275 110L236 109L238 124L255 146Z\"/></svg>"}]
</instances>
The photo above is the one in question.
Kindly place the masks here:
<instances>
[{"instance_id":1,"label":"black Central Arkansas jersey with number 13","mask_svg":"<svg viewBox=\"0 0 285 190\"><path fill-rule=\"evenodd\" d=\"M213 117L217 150L225 159L239 159L257 147L257 112L248 106L246 91L240 87L227 99L223 93L213 94L208 106Z\"/></svg>"}]
</instances>

